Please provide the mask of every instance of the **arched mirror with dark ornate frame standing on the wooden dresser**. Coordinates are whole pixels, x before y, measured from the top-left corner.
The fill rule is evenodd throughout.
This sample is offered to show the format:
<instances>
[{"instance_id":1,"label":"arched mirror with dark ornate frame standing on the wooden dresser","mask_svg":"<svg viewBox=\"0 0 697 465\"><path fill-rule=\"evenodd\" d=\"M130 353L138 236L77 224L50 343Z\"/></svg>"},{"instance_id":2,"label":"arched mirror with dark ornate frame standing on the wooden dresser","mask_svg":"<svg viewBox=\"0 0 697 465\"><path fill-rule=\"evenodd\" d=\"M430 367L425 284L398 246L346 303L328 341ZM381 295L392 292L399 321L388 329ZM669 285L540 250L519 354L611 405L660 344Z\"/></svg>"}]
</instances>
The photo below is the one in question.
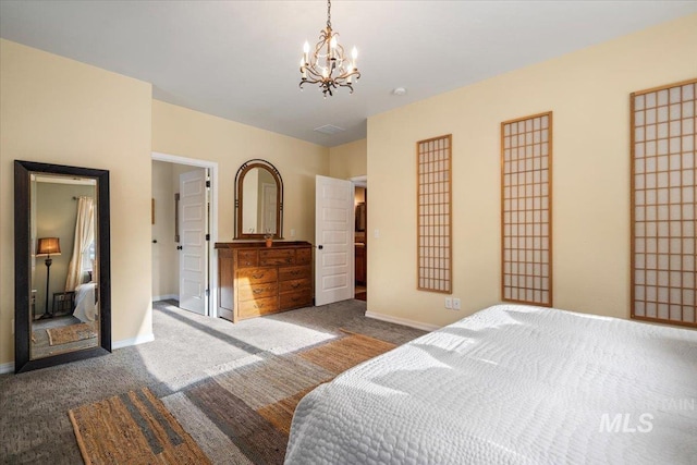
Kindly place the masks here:
<instances>
[{"instance_id":1,"label":"arched mirror with dark ornate frame standing on the wooden dresser","mask_svg":"<svg viewBox=\"0 0 697 465\"><path fill-rule=\"evenodd\" d=\"M235 238L283 238L283 180L266 160L246 161L235 175Z\"/></svg>"}]
</instances>

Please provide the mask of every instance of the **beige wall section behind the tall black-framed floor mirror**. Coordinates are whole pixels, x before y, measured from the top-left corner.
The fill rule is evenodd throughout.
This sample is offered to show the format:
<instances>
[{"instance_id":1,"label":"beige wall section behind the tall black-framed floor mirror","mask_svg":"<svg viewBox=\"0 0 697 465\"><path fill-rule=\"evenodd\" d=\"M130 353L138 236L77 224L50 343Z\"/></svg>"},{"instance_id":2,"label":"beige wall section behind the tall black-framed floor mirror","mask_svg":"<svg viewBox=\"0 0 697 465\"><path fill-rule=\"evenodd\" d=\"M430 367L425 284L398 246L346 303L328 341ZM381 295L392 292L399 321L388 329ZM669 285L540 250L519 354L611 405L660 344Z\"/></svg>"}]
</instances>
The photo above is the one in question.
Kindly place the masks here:
<instances>
[{"instance_id":1,"label":"beige wall section behind the tall black-framed floor mirror","mask_svg":"<svg viewBox=\"0 0 697 465\"><path fill-rule=\"evenodd\" d=\"M112 339L151 333L151 86L0 40L0 364L14 359L13 160L110 171Z\"/></svg>"}]
</instances>

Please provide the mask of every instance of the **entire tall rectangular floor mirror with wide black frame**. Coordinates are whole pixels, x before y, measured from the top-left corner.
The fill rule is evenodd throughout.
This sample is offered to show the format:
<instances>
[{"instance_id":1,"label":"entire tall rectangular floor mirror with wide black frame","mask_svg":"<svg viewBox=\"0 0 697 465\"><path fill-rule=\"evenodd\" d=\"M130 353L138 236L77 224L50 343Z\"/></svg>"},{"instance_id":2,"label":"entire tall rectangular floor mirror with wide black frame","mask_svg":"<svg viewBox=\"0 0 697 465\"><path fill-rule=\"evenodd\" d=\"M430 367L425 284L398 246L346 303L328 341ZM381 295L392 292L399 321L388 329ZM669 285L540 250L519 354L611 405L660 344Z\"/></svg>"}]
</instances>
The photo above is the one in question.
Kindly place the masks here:
<instances>
[{"instance_id":1,"label":"entire tall rectangular floor mirror with wide black frame","mask_svg":"<svg viewBox=\"0 0 697 465\"><path fill-rule=\"evenodd\" d=\"M109 171L15 160L15 372L111 352L109 228Z\"/></svg>"}]
</instances>

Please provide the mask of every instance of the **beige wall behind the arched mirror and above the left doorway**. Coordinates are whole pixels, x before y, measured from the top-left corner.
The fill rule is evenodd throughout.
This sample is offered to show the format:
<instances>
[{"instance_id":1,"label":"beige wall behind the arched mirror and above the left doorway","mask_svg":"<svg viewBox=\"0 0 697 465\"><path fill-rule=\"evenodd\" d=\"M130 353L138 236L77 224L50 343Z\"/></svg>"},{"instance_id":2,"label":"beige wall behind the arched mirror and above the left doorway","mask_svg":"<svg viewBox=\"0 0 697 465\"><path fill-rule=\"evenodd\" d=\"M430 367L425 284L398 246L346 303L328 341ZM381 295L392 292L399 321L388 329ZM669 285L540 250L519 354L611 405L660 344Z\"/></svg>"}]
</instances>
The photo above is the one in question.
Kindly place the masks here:
<instances>
[{"instance_id":1,"label":"beige wall behind the arched mirror and above the left doorway","mask_svg":"<svg viewBox=\"0 0 697 465\"><path fill-rule=\"evenodd\" d=\"M217 242L234 236L237 169L252 158L270 161L283 178L284 238L314 242L315 175L329 174L328 148L154 100L152 150L218 163Z\"/></svg>"}]
</instances>

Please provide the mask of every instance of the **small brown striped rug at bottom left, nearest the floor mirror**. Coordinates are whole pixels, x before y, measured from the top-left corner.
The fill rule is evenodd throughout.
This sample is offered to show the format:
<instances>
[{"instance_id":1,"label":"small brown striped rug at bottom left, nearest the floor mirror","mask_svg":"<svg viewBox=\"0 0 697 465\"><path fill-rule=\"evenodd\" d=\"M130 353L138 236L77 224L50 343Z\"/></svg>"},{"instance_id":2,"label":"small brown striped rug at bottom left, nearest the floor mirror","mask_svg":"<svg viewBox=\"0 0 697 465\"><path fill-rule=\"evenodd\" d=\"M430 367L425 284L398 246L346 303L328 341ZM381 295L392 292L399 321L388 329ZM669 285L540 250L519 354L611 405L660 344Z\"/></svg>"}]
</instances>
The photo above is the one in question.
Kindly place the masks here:
<instances>
[{"instance_id":1,"label":"small brown striped rug at bottom left, nearest the floor mirror","mask_svg":"<svg viewBox=\"0 0 697 465\"><path fill-rule=\"evenodd\" d=\"M162 403L144 388L69 412L85 464L209 464Z\"/></svg>"}]
</instances>

